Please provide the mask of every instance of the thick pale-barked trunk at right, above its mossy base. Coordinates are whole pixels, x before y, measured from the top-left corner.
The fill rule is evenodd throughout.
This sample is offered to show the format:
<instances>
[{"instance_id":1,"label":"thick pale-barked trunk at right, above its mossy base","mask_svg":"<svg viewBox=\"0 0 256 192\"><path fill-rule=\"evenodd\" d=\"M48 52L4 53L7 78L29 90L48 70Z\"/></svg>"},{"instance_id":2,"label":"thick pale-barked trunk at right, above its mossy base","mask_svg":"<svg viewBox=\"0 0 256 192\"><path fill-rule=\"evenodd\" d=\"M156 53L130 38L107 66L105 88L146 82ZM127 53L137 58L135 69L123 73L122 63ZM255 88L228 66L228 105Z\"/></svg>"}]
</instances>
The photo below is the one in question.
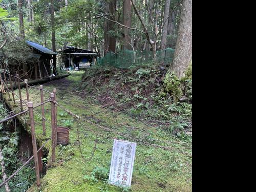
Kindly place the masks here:
<instances>
[{"instance_id":1,"label":"thick pale-barked trunk at right, above its mossy base","mask_svg":"<svg viewBox=\"0 0 256 192\"><path fill-rule=\"evenodd\" d=\"M182 4L174 60L169 68L179 78L184 76L192 60L192 0L183 0Z\"/></svg>"}]
</instances>

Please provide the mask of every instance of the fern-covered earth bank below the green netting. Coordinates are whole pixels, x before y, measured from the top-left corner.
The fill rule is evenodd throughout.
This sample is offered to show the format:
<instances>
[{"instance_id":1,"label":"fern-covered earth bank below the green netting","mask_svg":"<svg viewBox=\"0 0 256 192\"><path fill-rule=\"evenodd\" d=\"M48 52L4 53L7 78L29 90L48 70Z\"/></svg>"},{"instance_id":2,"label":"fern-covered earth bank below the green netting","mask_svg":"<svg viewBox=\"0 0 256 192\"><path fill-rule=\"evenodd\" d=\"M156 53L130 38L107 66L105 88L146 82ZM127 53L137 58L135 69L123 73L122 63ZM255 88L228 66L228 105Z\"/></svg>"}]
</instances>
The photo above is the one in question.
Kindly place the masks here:
<instances>
[{"instance_id":1,"label":"fern-covered earth bank below the green netting","mask_svg":"<svg viewBox=\"0 0 256 192\"><path fill-rule=\"evenodd\" d=\"M165 90L166 70L156 63L132 69L114 67L89 68L82 77L80 95L94 96L104 108L123 111L144 120L161 120L169 134L186 137L192 129L191 68L179 80L173 75ZM167 89L168 88L168 89ZM174 102L177 95L187 102Z\"/></svg>"}]
</instances>

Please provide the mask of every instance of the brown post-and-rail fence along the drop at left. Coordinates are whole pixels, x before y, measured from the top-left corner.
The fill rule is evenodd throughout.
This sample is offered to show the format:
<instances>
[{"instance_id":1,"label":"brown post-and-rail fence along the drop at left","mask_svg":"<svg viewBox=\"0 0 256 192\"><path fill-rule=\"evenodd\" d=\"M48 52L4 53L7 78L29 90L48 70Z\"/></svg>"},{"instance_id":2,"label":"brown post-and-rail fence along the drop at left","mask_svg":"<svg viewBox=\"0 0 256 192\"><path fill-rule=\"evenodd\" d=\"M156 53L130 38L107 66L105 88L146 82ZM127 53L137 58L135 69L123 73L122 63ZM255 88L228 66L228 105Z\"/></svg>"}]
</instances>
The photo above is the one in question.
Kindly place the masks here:
<instances>
[{"instance_id":1,"label":"brown post-and-rail fence along the drop at left","mask_svg":"<svg viewBox=\"0 0 256 192\"><path fill-rule=\"evenodd\" d=\"M29 113L29 121L30 121L30 129L31 129L31 136L32 136L32 146L33 146L33 156L24 164L22 165L19 169L15 171L14 174L12 174L8 179L3 181L3 183L0 184L0 187L5 185L10 179L12 179L22 168L28 164L32 159L34 159L35 163L35 173L36 173L36 184L37 186L40 186L40 176L39 176L39 163L38 163L38 152L42 149L42 147L45 146L45 144L52 140L52 161L55 162L55 146L57 145L57 104L56 104L56 89L53 89L53 93L50 93L47 90L43 89L43 86L40 85L39 88L29 86L28 85L28 80L25 79L24 82L26 83L26 96L27 96L27 102L22 99L22 93L20 90L20 81L23 81L22 79L19 78L19 75L16 74L15 76L8 74L9 75L9 84L10 84L10 89L8 88L8 83L7 83L7 78L6 78L6 72L4 72L4 79L0 75L0 80L1 80L1 87L0 90L3 94L8 93L8 98L11 98L12 95L12 102L15 104L15 96L19 98L20 102L20 113L17 113L15 115L12 115L10 117L7 117L5 119L0 120L0 123L6 122L10 119L13 119L14 117L23 115L25 113ZM18 84L18 95L16 95L13 91L13 82L12 79L14 79L14 84L16 86L16 83ZM33 102L30 101L29 98L29 87L34 88L34 89L39 89L40 90L40 104L33 105ZM7 93L6 93L7 92ZM44 101L44 92L49 93L49 98L47 101ZM10 95L11 94L11 95ZM35 133L35 122L34 122L34 113L39 115L42 118L42 134L45 136L46 135L46 125L45 121L48 121L45 118L45 104L48 102L51 103L51 136L50 138L42 144L42 146L37 150L37 143L36 143L36 133ZM23 103L25 103L28 106L27 110L23 109ZM36 111L34 111L35 108L38 108L41 106L41 114L38 114ZM49 122L49 121L48 121Z\"/></svg>"}]
</instances>

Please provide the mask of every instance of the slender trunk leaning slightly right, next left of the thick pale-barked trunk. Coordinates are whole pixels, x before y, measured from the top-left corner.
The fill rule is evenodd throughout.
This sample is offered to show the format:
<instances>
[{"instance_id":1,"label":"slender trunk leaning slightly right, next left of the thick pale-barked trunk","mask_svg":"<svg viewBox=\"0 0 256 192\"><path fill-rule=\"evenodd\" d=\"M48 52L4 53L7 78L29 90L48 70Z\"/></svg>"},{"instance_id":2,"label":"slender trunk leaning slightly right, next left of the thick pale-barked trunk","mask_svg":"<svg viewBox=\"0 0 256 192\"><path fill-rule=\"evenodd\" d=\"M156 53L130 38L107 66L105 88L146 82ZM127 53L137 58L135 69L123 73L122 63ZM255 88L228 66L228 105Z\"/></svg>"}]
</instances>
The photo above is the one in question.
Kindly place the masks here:
<instances>
[{"instance_id":1,"label":"slender trunk leaning slightly right, next left of the thick pale-barked trunk","mask_svg":"<svg viewBox=\"0 0 256 192\"><path fill-rule=\"evenodd\" d=\"M165 49L166 46L166 36L167 36L167 29L168 29L168 16L169 16L169 9L170 9L170 0L165 0L164 5L164 15L163 15L163 28L162 28L162 37L161 37L161 50Z\"/></svg>"}]
</instances>

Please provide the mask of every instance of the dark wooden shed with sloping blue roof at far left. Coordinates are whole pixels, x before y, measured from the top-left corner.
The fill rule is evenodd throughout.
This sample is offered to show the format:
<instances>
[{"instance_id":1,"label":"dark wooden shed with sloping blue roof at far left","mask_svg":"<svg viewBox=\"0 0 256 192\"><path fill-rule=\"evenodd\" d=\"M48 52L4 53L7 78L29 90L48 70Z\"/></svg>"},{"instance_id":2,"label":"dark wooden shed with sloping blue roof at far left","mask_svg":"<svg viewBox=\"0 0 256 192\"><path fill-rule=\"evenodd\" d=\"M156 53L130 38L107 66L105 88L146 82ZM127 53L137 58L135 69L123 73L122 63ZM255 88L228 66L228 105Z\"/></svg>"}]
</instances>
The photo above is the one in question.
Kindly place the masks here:
<instances>
[{"instance_id":1,"label":"dark wooden shed with sloping blue roof at far left","mask_svg":"<svg viewBox=\"0 0 256 192\"><path fill-rule=\"evenodd\" d=\"M20 47L20 44L23 47ZM13 75L19 74L23 79L45 78L52 75L51 62L53 55L57 53L29 40L10 42L9 46L11 49L4 51L1 57L2 69L8 70Z\"/></svg>"}]
</instances>

